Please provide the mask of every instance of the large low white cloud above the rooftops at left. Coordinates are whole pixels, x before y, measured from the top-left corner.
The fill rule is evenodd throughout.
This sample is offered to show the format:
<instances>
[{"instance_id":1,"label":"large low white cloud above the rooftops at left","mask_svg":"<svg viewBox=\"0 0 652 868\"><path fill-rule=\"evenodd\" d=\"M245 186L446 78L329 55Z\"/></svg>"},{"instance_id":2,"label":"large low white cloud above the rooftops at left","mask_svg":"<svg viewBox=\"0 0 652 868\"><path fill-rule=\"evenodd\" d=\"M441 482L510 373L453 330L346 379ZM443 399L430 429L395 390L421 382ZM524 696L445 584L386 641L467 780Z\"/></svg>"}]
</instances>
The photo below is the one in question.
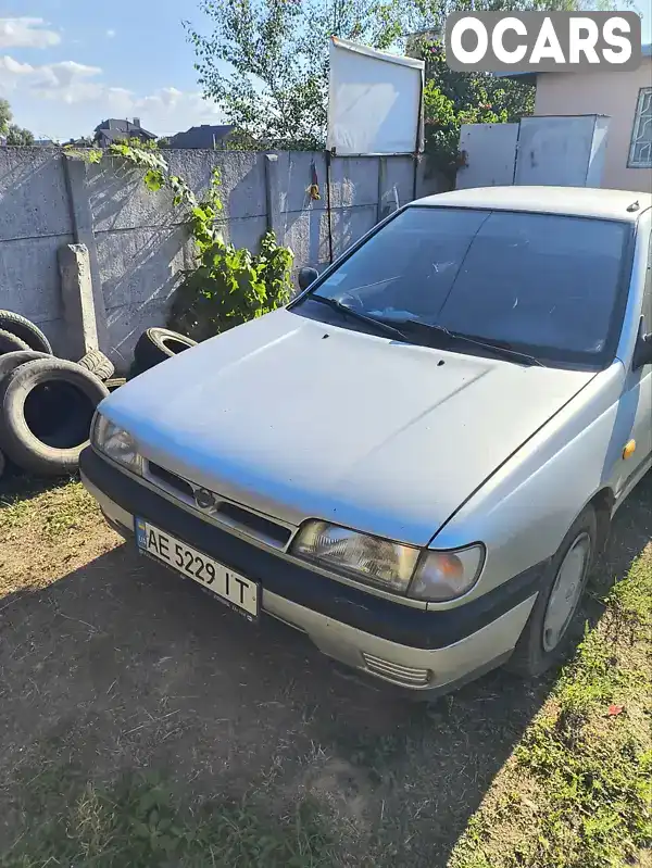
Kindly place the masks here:
<instances>
[{"instance_id":1,"label":"large low white cloud above the rooftops at left","mask_svg":"<svg viewBox=\"0 0 652 868\"><path fill-rule=\"evenodd\" d=\"M32 65L0 55L0 92L10 96L16 123L38 135L89 135L108 117L139 117L158 136L222 121L220 109L199 92L166 87L141 96L104 84L98 66L75 61Z\"/></svg>"}]
</instances>

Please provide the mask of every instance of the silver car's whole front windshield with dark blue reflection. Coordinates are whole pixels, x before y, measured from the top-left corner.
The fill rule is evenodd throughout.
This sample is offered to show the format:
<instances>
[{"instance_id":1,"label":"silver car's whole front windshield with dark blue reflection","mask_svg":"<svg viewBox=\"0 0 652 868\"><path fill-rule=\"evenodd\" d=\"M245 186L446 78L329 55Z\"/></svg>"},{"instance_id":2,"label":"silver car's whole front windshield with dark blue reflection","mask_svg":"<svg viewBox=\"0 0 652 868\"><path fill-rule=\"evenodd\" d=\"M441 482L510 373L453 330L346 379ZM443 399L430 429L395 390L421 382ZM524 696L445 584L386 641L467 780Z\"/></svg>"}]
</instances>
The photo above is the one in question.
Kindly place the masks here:
<instances>
[{"instance_id":1,"label":"silver car's whole front windshield with dark blue reflection","mask_svg":"<svg viewBox=\"0 0 652 868\"><path fill-rule=\"evenodd\" d=\"M430 330L444 335L428 328L438 326L548 364L603 364L617 339L629 231L607 219L411 206L301 304L313 295L333 299L393 324L414 342L431 342ZM317 316L341 313L318 306ZM366 328L362 317L341 319Z\"/></svg>"}]
</instances>

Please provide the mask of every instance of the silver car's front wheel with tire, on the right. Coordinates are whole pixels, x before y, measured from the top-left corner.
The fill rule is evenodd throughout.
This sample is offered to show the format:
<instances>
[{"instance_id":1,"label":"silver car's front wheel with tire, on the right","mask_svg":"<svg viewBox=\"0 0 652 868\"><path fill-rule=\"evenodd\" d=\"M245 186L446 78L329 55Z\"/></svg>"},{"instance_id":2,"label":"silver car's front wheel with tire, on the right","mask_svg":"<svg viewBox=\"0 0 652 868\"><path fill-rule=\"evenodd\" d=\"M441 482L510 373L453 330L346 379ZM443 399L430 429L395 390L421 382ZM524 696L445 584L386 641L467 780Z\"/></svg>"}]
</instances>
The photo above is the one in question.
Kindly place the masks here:
<instances>
[{"instance_id":1,"label":"silver car's front wheel with tire, on the right","mask_svg":"<svg viewBox=\"0 0 652 868\"><path fill-rule=\"evenodd\" d=\"M505 669L536 678L561 663L598 553L598 519L588 506L573 523L550 562L528 621Z\"/></svg>"}]
</instances>

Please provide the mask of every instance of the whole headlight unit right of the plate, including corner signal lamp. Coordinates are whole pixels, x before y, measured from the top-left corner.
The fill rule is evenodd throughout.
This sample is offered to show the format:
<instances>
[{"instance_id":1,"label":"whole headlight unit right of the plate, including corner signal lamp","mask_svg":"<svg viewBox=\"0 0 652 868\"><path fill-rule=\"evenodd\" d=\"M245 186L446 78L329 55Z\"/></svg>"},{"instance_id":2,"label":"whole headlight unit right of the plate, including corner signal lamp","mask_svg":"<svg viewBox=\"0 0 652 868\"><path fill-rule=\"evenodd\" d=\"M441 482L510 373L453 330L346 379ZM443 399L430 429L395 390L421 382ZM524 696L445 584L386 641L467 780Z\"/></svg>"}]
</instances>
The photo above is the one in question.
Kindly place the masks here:
<instances>
[{"instance_id":1,"label":"whole headlight unit right of the plate, including corner signal lamp","mask_svg":"<svg viewBox=\"0 0 652 868\"><path fill-rule=\"evenodd\" d=\"M481 544L454 552L423 551L327 521L309 521L299 531L292 554L359 581L434 603L469 591L485 562Z\"/></svg>"}]
</instances>

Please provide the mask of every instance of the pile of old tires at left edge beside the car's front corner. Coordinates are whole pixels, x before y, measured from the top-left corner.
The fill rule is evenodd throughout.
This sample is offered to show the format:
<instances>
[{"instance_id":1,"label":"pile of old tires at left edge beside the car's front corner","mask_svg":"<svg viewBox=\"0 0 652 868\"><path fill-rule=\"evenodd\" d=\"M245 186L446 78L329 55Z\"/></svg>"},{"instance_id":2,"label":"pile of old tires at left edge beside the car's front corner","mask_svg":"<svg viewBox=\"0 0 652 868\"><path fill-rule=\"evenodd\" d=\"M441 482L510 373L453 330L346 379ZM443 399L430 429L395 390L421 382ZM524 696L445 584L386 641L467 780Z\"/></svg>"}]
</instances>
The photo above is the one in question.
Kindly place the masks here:
<instances>
[{"instance_id":1,"label":"pile of old tires at left edge beside the car's front corner","mask_svg":"<svg viewBox=\"0 0 652 868\"><path fill-rule=\"evenodd\" d=\"M0 476L8 464L39 477L75 474L113 373L95 350L79 362L55 357L37 326L0 311Z\"/></svg>"}]
</instances>

